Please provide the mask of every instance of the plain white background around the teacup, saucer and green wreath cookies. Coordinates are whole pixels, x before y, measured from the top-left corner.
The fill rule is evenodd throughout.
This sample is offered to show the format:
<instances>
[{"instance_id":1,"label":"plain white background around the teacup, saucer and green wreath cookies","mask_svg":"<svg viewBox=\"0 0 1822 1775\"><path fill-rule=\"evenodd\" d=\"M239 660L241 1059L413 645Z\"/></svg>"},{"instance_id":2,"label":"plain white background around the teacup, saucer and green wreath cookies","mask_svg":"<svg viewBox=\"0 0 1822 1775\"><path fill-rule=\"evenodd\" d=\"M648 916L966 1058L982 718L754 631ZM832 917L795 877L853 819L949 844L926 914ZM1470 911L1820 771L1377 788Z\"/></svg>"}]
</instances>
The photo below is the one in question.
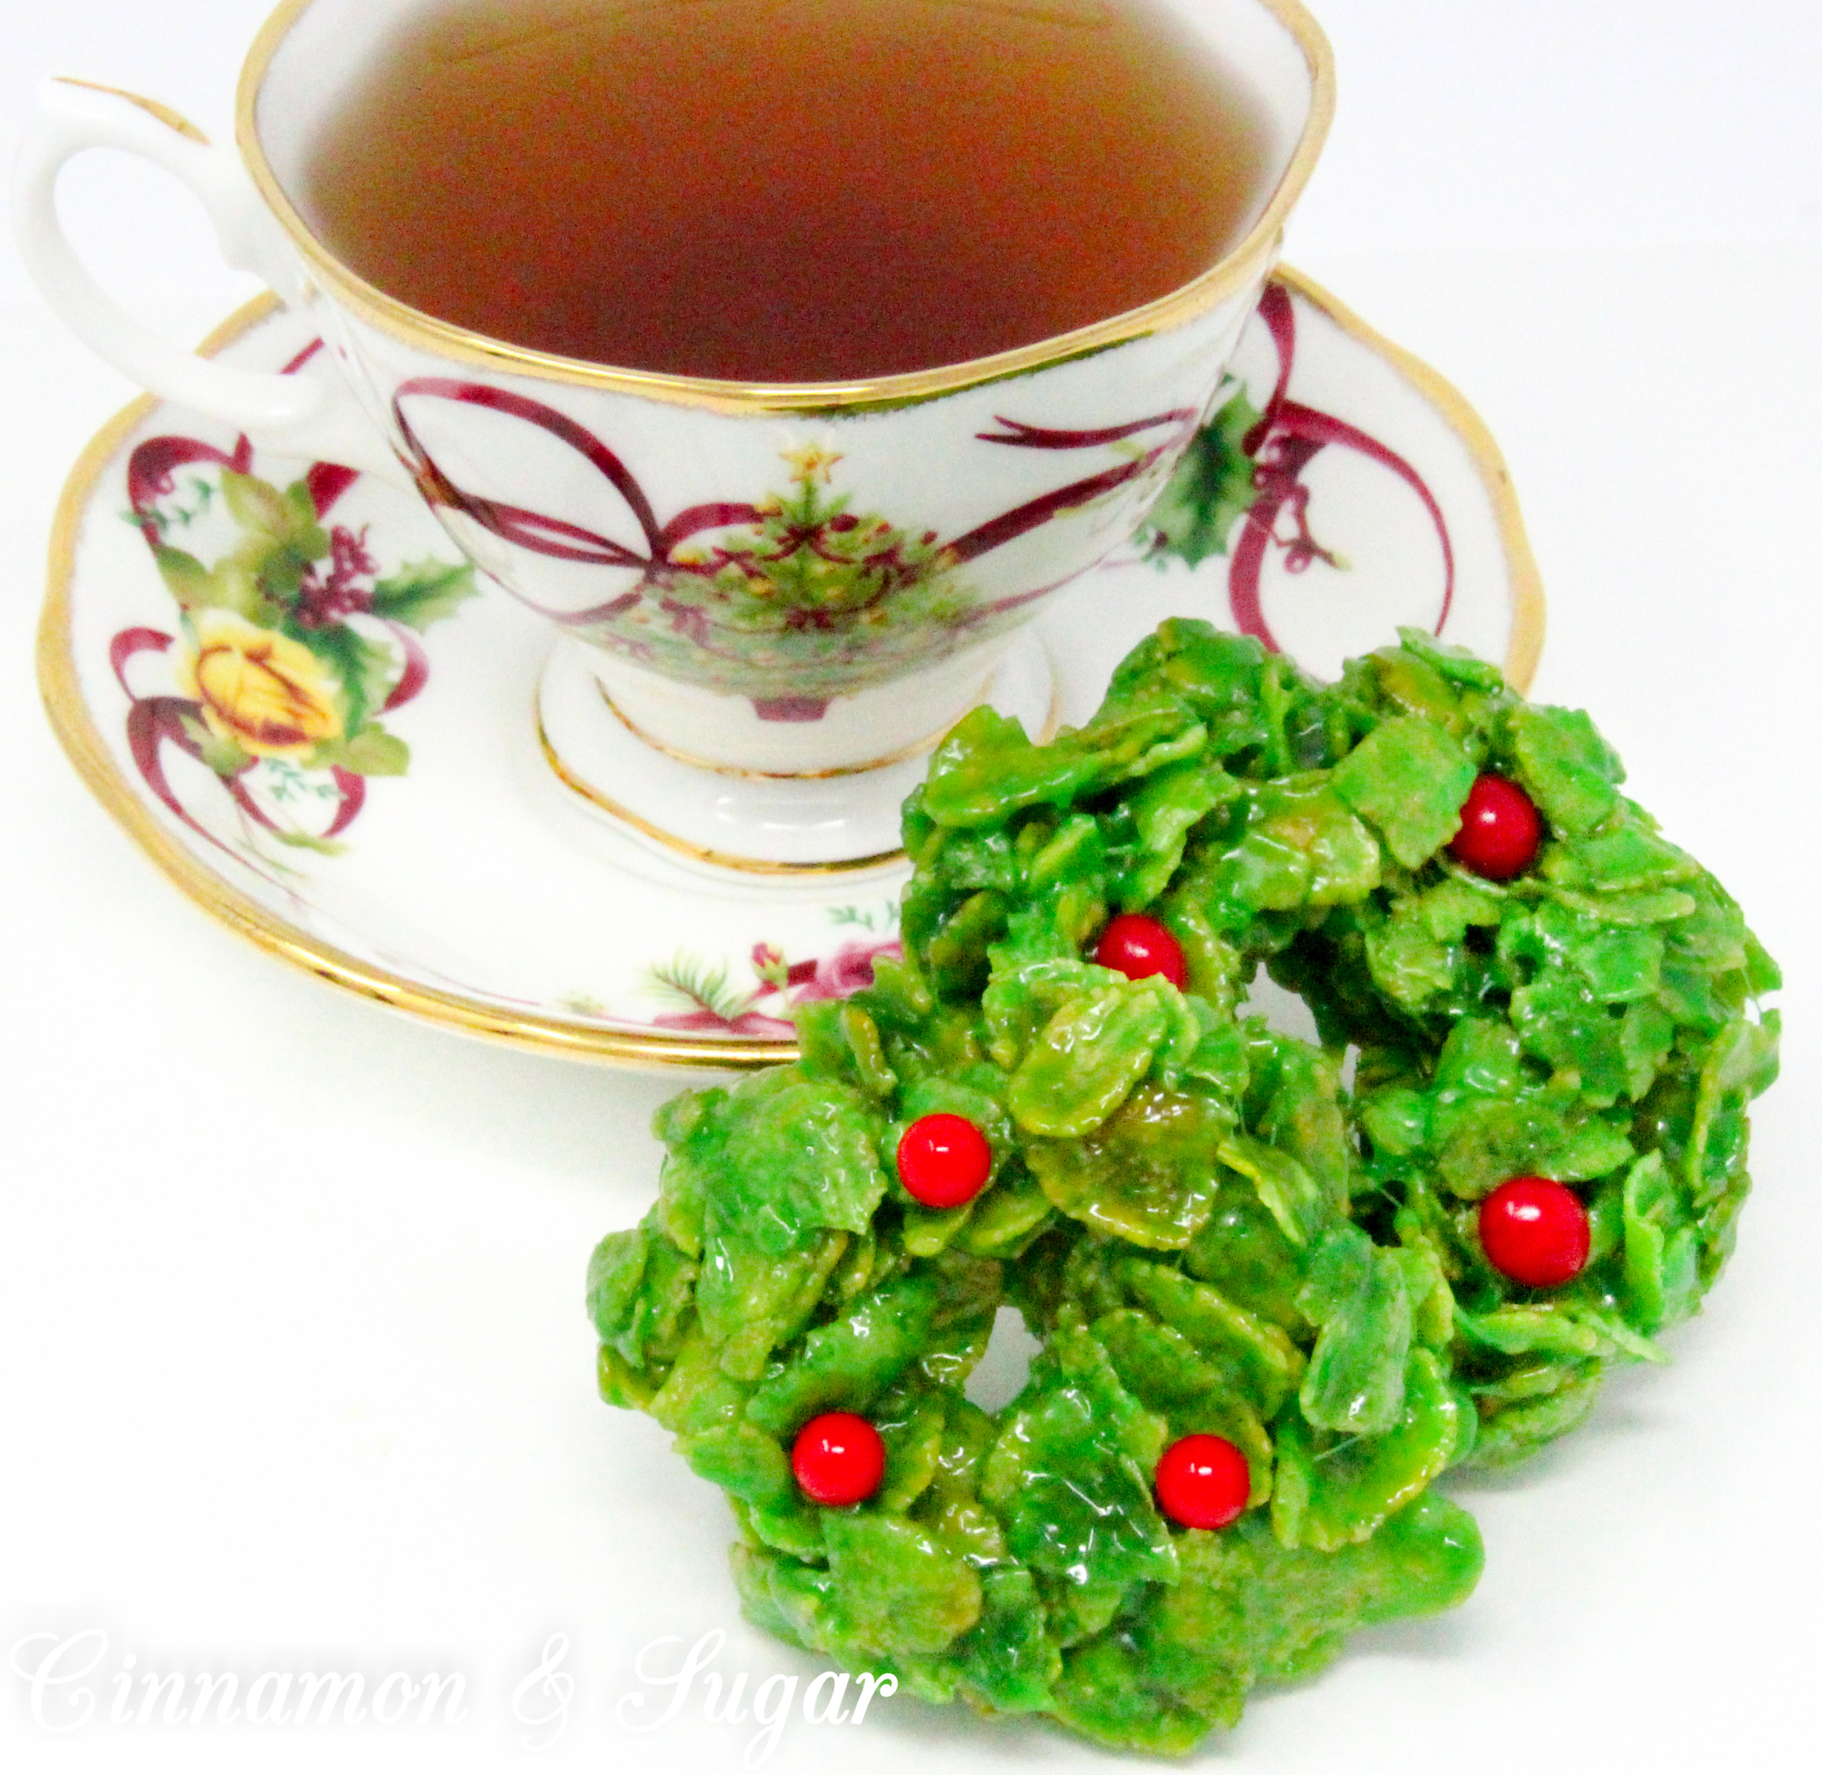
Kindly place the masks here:
<instances>
[{"instance_id":1,"label":"plain white background around the teacup, saucer and green wreath cookies","mask_svg":"<svg viewBox=\"0 0 1822 1775\"><path fill-rule=\"evenodd\" d=\"M64 71L226 135L264 0L5 0L0 139ZM1667 1372L1458 1496L1458 1615L1363 1635L1203 1760L1255 1771L1745 1771L1815 1755L1813 1281L1822 580L1822 11L1804 0L1325 0L1341 71L1288 257L1476 403L1551 600L1536 693L1594 711L1633 793L1787 973L1786 1079L1738 1257ZM69 208L148 313L246 292L188 200L91 157ZM612 1702L658 1635L809 1671L740 1622L729 1522L592 1394L581 1270L641 1212L674 1081L496 1052L242 946L86 796L33 685L51 508L131 390L0 246L0 1640L102 1627L138 1669L461 1669L450 1731L91 1726L0 1671L0 1766L738 1768ZM610 909L603 909L610 915ZM510 1693L570 1636L570 1726ZM674 1647L672 1647L674 1655ZM751 1729L751 1728L749 1728ZM780 1770L1090 1768L1055 1733L904 1702L798 1722Z\"/></svg>"}]
</instances>

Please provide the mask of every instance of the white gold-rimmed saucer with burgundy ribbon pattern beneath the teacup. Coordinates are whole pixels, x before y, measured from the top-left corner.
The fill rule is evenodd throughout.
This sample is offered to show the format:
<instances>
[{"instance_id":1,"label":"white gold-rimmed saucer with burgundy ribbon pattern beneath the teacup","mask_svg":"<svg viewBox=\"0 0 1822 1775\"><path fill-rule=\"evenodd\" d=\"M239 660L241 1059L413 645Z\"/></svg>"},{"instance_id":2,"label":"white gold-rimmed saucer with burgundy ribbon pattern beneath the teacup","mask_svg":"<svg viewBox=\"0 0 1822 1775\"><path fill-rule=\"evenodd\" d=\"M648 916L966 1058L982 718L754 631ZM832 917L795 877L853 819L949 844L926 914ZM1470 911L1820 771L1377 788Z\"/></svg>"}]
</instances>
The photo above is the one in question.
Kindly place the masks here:
<instances>
[{"instance_id":1,"label":"white gold-rimmed saucer with burgundy ribbon pattern beneath the teacup","mask_svg":"<svg viewBox=\"0 0 1822 1775\"><path fill-rule=\"evenodd\" d=\"M1272 425L1246 439L1252 514L1233 503L1246 481L1232 474L1210 507L1219 523L1203 541L1228 552L1195 567L1148 559L1142 532L1031 625L1013 662L1024 678L1004 687L1015 705L1031 702L1048 660L1051 718L1080 722L1113 663L1172 614L1266 634L1325 676L1416 623L1529 683L1543 600L1487 428L1321 290L1292 272L1277 284L1285 293L1248 324L1235 359L1235 394ZM264 299L210 350L277 368L310 344L304 323ZM1241 414L1228 410L1233 437ZM206 448L144 450L151 439ZM392 654L370 698L390 738L339 775L270 754L219 775L211 764L231 773L237 762L197 718L179 609L148 547L157 527L135 510L157 510L166 543L211 567L246 536L246 499L231 510L222 488L235 448L226 428L151 399L120 414L64 490L40 631L40 683L64 747L199 904L397 1010L627 1064L785 1059L793 1004L867 980L873 953L895 940L904 862L725 867L703 858L712 846L636 831L567 785L536 714L547 623L494 589L457 598L456 580L415 609L421 641L410 623L359 614L375 581L428 585L434 574L414 581L410 569L454 561L435 521L370 477L315 470L322 525L343 538L317 570L326 583L339 567L353 600L332 600L324 621L364 638L370 660ZM312 476L301 461L239 461L277 488ZM153 498L157 470L169 479ZM177 581L186 570L168 569ZM559 674L552 665L547 718ZM906 787L920 769L900 767Z\"/></svg>"}]
</instances>

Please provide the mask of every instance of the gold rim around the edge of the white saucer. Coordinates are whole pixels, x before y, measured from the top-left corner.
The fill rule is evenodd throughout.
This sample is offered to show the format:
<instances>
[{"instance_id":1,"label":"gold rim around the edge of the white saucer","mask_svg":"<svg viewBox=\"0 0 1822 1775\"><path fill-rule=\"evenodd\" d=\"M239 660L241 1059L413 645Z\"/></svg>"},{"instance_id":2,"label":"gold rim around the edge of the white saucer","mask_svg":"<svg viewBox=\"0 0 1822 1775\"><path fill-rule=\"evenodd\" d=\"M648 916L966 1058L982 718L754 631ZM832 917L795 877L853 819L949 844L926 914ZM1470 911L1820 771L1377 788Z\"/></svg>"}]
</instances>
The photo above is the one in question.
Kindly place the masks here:
<instances>
[{"instance_id":1,"label":"gold rim around the edge of the white saucer","mask_svg":"<svg viewBox=\"0 0 1822 1775\"><path fill-rule=\"evenodd\" d=\"M1492 434L1461 394L1421 359L1392 344L1301 273L1279 266L1275 275L1294 295L1308 301L1346 335L1390 363L1461 439L1487 488L1505 550L1512 612L1503 662L1505 674L1518 691L1529 691L1543 649L1543 585L1530 543L1525 538L1512 477ZM275 295L255 297L210 333L200 346L202 355L222 352L281 306ZM51 727L95 798L120 822L128 836L159 869L204 911L270 955L377 1004L408 1011L450 1030L490 1037L537 1053L619 1066L745 1070L796 1059L796 1044L789 1041L669 1035L652 1030L578 1024L561 1017L510 1011L481 999L423 986L286 926L255 900L222 882L162 827L149 805L115 767L107 744L95 725L82 696L71 634L77 543L97 483L126 439L160 405L157 397L142 395L107 421L77 457L53 519L46 603L38 623L38 687Z\"/></svg>"}]
</instances>

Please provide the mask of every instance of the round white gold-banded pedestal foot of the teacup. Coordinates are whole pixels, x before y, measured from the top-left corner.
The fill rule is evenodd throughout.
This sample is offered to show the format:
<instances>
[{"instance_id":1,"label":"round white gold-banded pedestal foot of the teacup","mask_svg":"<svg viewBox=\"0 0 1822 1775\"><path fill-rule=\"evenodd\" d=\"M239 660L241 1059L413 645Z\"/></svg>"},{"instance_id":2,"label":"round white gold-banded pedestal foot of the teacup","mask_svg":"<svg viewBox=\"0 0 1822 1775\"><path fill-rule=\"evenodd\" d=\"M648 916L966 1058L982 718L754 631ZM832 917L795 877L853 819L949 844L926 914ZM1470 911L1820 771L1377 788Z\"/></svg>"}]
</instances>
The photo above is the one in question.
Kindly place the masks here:
<instances>
[{"instance_id":1,"label":"round white gold-banded pedestal foot of the teacup","mask_svg":"<svg viewBox=\"0 0 1822 1775\"><path fill-rule=\"evenodd\" d=\"M946 727L876 765L773 775L660 749L596 672L596 654L559 641L537 685L545 762L598 818L663 855L760 875L820 875L891 862L898 813L924 780ZM1031 738L1055 727L1055 676L1026 629L980 667L977 702L1018 720ZM953 725L953 723L946 723Z\"/></svg>"}]
</instances>

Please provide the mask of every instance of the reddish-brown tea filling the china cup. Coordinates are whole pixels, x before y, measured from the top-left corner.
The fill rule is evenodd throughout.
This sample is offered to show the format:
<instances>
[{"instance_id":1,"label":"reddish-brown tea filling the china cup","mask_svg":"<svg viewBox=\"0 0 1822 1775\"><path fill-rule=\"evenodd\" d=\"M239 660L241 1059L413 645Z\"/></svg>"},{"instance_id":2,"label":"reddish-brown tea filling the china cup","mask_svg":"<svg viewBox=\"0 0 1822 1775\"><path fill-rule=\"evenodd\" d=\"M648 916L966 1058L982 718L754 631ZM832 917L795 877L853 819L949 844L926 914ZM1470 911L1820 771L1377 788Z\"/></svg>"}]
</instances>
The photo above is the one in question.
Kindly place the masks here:
<instances>
[{"instance_id":1,"label":"reddish-brown tea filling the china cup","mask_svg":"<svg viewBox=\"0 0 1822 1775\"><path fill-rule=\"evenodd\" d=\"M494 339L743 383L966 363L1215 264L1263 113L1161 0L443 0L295 195Z\"/></svg>"}]
</instances>

